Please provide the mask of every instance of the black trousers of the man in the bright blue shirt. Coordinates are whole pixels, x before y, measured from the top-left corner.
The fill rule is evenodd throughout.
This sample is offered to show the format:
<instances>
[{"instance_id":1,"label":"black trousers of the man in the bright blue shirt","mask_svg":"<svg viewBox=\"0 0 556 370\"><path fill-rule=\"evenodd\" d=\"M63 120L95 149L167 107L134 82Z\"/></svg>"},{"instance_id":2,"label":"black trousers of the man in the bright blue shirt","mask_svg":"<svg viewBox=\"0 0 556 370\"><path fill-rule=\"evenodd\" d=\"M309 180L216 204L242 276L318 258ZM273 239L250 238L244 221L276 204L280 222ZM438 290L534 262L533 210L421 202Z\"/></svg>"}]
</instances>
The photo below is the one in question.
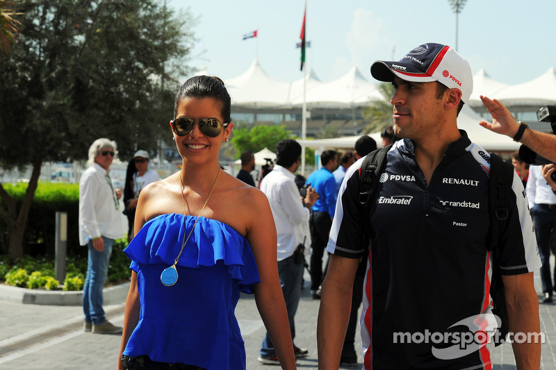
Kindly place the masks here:
<instances>
[{"instance_id":1,"label":"black trousers of the man in the bright blue shirt","mask_svg":"<svg viewBox=\"0 0 556 370\"><path fill-rule=\"evenodd\" d=\"M322 255L328 244L328 235L332 228L332 219L328 212L311 212L311 290L317 290L322 284ZM326 271L325 271L326 274Z\"/></svg>"}]
</instances>

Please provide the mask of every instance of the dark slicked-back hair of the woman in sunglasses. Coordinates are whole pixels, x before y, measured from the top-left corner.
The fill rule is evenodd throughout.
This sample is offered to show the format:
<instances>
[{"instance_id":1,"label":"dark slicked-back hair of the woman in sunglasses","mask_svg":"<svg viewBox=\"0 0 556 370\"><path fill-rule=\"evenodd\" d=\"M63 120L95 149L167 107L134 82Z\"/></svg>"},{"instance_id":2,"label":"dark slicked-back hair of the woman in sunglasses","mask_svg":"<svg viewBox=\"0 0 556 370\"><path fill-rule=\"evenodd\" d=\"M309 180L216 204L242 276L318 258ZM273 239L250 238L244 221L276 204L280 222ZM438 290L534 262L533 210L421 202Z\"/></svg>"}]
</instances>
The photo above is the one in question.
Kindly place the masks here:
<instances>
[{"instance_id":1,"label":"dark slicked-back hair of the woman in sunglasses","mask_svg":"<svg viewBox=\"0 0 556 370\"><path fill-rule=\"evenodd\" d=\"M176 95L174 102L174 119L176 119L178 104L181 99L213 98L220 102L220 114L224 119L223 124L231 121L231 99L222 80L216 76L194 76L188 79Z\"/></svg>"}]
</instances>

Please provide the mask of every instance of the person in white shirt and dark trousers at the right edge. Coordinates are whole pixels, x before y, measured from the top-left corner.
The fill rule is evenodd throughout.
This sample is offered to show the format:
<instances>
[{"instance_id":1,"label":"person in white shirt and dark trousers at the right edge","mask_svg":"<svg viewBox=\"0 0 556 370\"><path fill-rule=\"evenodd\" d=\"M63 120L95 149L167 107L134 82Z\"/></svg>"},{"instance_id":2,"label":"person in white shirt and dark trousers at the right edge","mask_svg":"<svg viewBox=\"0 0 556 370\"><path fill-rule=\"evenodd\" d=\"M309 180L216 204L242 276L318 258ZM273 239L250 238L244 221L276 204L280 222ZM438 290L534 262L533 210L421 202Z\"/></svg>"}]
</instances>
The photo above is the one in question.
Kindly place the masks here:
<instances>
[{"instance_id":1,"label":"person in white shirt and dark trousers at the right edge","mask_svg":"<svg viewBox=\"0 0 556 370\"><path fill-rule=\"evenodd\" d=\"M525 192L529 200L529 209L533 217L534 231L537 236L543 284L543 303L553 302L553 283L550 277L550 250L556 242L556 196L547 179L543 177L544 166L530 166L529 179ZM550 178L550 177L549 177ZM554 251L554 250L553 250ZM556 269L554 271L556 280Z\"/></svg>"}]
</instances>

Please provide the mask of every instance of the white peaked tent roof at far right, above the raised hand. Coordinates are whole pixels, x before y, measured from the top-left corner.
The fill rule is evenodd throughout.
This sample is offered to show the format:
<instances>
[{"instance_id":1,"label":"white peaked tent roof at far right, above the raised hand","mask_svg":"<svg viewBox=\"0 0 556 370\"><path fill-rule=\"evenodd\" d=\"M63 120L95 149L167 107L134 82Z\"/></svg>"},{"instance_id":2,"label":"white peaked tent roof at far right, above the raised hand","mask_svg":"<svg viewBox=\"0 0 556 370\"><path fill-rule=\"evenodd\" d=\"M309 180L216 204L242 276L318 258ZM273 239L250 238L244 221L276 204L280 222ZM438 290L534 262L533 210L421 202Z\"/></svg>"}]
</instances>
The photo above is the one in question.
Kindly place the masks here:
<instances>
[{"instance_id":1,"label":"white peaked tent roof at far right, above the raised hand","mask_svg":"<svg viewBox=\"0 0 556 370\"><path fill-rule=\"evenodd\" d=\"M532 81L512 85L500 90L496 99L507 105L543 106L556 101L556 72L550 67Z\"/></svg>"}]
</instances>

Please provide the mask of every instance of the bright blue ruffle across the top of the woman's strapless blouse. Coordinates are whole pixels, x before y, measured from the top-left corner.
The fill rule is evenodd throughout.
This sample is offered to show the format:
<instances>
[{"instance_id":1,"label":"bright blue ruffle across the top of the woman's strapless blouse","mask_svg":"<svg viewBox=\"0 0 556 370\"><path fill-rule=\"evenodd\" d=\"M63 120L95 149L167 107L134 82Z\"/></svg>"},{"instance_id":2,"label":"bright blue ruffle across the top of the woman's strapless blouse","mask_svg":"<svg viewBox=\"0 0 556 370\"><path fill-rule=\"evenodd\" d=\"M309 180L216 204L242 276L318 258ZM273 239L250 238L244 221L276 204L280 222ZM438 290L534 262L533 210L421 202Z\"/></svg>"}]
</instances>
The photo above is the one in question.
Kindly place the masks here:
<instances>
[{"instance_id":1,"label":"bright blue ruffle across the top of the woman's strapless blouse","mask_svg":"<svg viewBox=\"0 0 556 370\"><path fill-rule=\"evenodd\" d=\"M186 238L195 217L186 217ZM183 243L183 215L161 215L148 221L124 249L131 258L133 271L138 264L174 264ZM147 248L145 248L147 246ZM251 285L260 283L259 271L247 239L220 221L199 217L178 261L178 266L197 268L213 266L222 260L244 293L252 294Z\"/></svg>"}]
</instances>

